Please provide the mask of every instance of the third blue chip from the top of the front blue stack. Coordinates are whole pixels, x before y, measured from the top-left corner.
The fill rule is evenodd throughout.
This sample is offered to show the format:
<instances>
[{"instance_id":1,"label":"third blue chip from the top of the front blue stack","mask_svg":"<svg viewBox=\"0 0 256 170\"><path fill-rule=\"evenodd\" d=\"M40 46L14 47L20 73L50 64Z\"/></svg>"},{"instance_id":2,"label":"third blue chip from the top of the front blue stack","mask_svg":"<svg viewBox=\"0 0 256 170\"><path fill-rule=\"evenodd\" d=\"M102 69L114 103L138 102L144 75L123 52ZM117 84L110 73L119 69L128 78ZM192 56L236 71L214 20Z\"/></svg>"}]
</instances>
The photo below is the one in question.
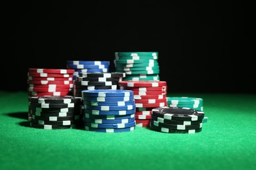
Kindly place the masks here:
<instances>
[{"instance_id":1,"label":"third blue chip from the top of the front blue stack","mask_svg":"<svg viewBox=\"0 0 256 170\"><path fill-rule=\"evenodd\" d=\"M116 101L116 102L83 101L83 104L91 105L91 106L127 106L127 105L135 105L135 100L133 100L133 101Z\"/></svg>"}]
</instances>

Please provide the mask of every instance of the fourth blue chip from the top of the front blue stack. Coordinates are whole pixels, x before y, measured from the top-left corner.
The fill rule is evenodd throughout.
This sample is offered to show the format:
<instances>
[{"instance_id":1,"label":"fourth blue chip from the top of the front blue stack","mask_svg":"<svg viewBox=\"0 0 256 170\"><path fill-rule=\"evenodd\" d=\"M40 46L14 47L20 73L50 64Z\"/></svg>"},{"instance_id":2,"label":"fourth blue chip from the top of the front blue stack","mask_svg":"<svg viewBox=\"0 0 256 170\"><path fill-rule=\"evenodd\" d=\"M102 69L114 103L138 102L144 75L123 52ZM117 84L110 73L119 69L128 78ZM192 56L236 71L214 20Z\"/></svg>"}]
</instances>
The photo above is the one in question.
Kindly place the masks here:
<instances>
[{"instance_id":1,"label":"fourth blue chip from the top of the front blue stack","mask_svg":"<svg viewBox=\"0 0 256 170\"><path fill-rule=\"evenodd\" d=\"M84 109L87 110L100 110L100 111L112 111L112 110L134 110L136 105L127 105L127 106L91 106L83 105Z\"/></svg>"}]
</instances>

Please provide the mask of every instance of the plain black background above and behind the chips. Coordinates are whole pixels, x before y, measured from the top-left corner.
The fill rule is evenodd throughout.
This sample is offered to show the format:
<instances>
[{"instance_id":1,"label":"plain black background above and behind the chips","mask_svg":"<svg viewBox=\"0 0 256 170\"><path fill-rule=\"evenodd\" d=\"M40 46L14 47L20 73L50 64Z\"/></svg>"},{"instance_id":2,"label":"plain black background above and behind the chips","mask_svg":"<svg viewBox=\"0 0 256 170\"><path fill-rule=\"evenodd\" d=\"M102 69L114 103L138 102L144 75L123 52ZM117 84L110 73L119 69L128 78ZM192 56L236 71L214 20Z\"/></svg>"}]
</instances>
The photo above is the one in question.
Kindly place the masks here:
<instances>
[{"instance_id":1,"label":"plain black background above and behind the chips","mask_svg":"<svg viewBox=\"0 0 256 170\"><path fill-rule=\"evenodd\" d=\"M30 67L96 60L115 71L114 52L158 52L168 92L256 92L249 3L9 1L1 8L0 90L26 90Z\"/></svg>"}]
</instances>

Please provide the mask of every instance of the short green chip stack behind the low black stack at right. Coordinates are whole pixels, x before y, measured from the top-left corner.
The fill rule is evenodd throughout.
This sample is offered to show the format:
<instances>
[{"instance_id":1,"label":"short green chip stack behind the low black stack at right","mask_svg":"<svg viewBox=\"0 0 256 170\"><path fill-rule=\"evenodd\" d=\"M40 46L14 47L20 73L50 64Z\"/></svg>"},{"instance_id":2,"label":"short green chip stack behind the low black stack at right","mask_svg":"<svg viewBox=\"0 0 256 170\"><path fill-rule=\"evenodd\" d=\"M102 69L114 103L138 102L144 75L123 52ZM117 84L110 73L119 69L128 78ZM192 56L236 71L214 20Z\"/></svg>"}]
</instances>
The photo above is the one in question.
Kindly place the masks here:
<instances>
[{"instance_id":1,"label":"short green chip stack behind the low black stack at right","mask_svg":"<svg viewBox=\"0 0 256 170\"><path fill-rule=\"evenodd\" d=\"M199 97L167 97L169 107L188 107L190 109L203 111L203 99ZM208 117L203 118L203 123Z\"/></svg>"}]
</instances>

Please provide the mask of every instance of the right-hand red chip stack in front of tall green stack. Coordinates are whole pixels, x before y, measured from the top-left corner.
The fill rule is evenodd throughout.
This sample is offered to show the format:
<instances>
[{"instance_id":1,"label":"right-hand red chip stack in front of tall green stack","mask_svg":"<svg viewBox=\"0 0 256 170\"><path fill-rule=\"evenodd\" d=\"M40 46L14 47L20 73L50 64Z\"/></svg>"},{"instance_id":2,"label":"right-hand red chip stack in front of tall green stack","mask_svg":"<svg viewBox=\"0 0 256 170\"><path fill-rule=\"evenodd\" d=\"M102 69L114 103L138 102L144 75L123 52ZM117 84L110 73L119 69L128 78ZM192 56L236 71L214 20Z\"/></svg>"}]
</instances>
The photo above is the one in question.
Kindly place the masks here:
<instances>
[{"instance_id":1,"label":"right-hand red chip stack in front of tall green stack","mask_svg":"<svg viewBox=\"0 0 256 170\"><path fill-rule=\"evenodd\" d=\"M167 82L120 81L121 90L132 90L136 105L136 126L149 127L152 109L167 106Z\"/></svg>"}]
</instances>

